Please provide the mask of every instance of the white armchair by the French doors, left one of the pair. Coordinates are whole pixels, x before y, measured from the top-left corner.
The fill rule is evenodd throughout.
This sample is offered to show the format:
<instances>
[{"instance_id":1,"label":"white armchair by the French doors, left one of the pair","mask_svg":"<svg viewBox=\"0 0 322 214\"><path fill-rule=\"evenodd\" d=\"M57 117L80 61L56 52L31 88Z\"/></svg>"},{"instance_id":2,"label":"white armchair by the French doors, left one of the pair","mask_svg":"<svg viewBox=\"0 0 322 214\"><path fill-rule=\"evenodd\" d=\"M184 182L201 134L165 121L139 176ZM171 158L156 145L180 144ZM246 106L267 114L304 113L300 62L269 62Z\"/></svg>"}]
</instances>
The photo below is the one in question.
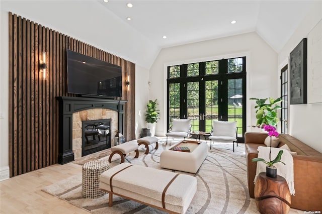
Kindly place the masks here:
<instances>
[{"instance_id":1,"label":"white armchair by the French doors, left one of the pair","mask_svg":"<svg viewBox=\"0 0 322 214\"><path fill-rule=\"evenodd\" d=\"M168 137L179 137L186 139L190 135L191 131L191 119L173 119L172 126L170 127L167 136L167 144Z\"/></svg>"}]
</instances>

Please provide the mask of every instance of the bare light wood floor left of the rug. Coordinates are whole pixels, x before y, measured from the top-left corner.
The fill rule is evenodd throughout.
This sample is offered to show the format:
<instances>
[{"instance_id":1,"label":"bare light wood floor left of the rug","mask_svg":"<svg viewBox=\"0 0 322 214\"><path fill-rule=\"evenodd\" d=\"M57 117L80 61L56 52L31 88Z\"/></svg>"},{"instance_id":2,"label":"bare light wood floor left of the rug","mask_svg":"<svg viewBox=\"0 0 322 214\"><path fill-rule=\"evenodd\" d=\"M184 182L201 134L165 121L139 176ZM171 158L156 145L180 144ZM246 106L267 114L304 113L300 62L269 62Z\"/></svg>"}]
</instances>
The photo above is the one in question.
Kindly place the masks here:
<instances>
[{"instance_id":1,"label":"bare light wood floor left of the rug","mask_svg":"<svg viewBox=\"0 0 322 214\"><path fill-rule=\"evenodd\" d=\"M45 186L82 173L82 166L55 164L0 182L0 213L89 214L70 203L41 191Z\"/></svg>"}]
</instances>

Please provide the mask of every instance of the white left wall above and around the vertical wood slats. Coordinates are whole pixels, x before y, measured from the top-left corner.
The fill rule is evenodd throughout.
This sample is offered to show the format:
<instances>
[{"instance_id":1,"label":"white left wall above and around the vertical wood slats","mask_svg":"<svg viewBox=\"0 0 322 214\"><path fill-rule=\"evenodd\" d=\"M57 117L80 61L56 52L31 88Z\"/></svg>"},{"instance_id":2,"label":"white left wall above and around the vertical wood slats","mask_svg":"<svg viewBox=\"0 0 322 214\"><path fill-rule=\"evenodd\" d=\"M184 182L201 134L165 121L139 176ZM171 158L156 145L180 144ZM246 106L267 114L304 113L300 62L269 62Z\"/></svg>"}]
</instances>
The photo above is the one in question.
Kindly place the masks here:
<instances>
[{"instance_id":1,"label":"white left wall above and around the vertical wood slats","mask_svg":"<svg viewBox=\"0 0 322 214\"><path fill-rule=\"evenodd\" d=\"M0 180L9 178L9 12L134 62L137 74L136 125L139 130L145 126L138 115L145 110L141 103L148 101L148 69L159 51L154 43L103 8L98 1L1 0L0 8Z\"/></svg>"}]
</instances>

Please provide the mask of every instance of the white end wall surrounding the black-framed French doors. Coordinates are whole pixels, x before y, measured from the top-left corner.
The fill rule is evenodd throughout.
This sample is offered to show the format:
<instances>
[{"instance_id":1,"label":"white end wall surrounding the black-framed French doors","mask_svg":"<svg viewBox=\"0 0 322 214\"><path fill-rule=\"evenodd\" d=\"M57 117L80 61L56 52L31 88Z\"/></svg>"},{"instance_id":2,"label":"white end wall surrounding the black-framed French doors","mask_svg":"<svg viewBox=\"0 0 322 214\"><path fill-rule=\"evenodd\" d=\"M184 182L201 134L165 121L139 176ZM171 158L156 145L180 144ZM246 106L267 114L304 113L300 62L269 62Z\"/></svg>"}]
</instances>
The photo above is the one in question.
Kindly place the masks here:
<instances>
[{"instance_id":1,"label":"white end wall surrounding the black-framed French doors","mask_svg":"<svg viewBox=\"0 0 322 214\"><path fill-rule=\"evenodd\" d=\"M277 53L257 33L247 33L160 51L150 69L150 98L160 103L156 134L167 131L167 66L239 56L247 57L247 126L256 125L255 102L249 98L277 97Z\"/></svg>"}]
</instances>

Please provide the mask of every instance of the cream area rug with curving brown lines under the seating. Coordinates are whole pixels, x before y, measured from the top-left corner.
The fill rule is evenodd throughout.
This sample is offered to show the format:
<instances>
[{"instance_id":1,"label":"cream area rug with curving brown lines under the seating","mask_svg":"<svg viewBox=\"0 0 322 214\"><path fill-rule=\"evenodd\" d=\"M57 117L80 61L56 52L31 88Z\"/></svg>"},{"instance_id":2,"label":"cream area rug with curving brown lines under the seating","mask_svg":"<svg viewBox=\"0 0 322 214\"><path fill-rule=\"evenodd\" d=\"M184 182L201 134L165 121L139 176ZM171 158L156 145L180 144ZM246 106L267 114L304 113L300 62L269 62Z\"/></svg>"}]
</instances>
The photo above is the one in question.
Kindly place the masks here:
<instances>
[{"instance_id":1,"label":"cream area rug with curving brown lines under the seating","mask_svg":"<svg viewBox=\"0 0 322 214\"><path fill-rule=\"evenodd\" d=\"M150 150L149 154L144 154L144 148L140 146L139 158L134 158L134 153L131 153L125 158L125 162L167 170L160 168L159 162L160 153L169 146L162 143L157 150ZM197 192L186 213L258 213L255 200L248 193L244 145L235 147L235 152L230 147L232 144L214 144L195 174L175 171L197 178ZM116 156L113 156L110 167L120 163L120 158ZM82 161L75 163L82 164ZM113 195L112 207L108 206L108 194L94 199L84 198L82 172L42 190L95 214L166 213L116 195Z\"/></svg>"}]
</instances>

